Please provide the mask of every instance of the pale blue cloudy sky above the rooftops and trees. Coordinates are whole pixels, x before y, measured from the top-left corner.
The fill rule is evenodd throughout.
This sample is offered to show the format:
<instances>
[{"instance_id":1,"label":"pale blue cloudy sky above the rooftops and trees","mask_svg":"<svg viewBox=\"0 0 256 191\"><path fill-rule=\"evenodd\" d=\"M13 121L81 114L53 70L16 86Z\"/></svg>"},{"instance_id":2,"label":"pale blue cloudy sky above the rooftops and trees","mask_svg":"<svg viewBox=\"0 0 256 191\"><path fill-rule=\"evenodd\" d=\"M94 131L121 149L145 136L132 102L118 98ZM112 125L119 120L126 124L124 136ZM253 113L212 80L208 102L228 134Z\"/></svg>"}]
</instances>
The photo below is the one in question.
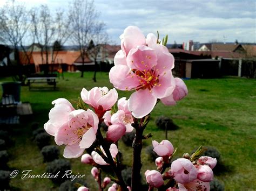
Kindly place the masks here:
<instances>
[{"instance_id":1,"label":"pale blue cloudy sky above the rooftops and trees","mask_svg":"<svg viewBox=\"0 0 256 191\"><path fill-rule=\"evenodd\" d=\"M28 8L47 4L52 11L68 10L65 0L18 0ZM3 6L5 0L0 0ZM39 3L38 3L39 2ZM169 35L169 43L193 40L207 43L210 40L256 43L255 1L134 1L95 0L99 19L105 22L107 33L114 44L126 26L136 25L143 33Z\"/></svg>"}]
</instances>

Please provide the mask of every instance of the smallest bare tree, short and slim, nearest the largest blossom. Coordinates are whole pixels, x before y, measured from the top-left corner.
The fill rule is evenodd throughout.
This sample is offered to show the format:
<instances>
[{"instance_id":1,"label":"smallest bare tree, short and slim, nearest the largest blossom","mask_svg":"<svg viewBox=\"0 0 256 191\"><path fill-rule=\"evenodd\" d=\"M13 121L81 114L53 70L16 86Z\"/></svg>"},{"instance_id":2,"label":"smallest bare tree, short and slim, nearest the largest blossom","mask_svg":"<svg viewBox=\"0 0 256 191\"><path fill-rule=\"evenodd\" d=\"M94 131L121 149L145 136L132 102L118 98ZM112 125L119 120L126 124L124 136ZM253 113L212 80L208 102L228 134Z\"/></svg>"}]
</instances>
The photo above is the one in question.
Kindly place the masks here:
<instances>
[{"instance_id":1,"label":"smallest bare tree, short and slim, nearest the largest blossom","mask_svg":"<svg viewBox=\"0 0 256 191\"><path fill-rule=\"evenodd\" d=\"M96 82L96 73L98 65L100 66L100 61L102 61L98 60L98 55L101 52L102 55L100 56L100 58L104 59L102 58L102 56L104 56L103 52L106 49L106 44L109 42L109 36L105 32L104 26L104 23L98 23L98 25L95 27L94 31L92 32L91 41L87 49L89 56L95 62L95 72L93 75L94 82Z\"/></svg>"}]
</instances>

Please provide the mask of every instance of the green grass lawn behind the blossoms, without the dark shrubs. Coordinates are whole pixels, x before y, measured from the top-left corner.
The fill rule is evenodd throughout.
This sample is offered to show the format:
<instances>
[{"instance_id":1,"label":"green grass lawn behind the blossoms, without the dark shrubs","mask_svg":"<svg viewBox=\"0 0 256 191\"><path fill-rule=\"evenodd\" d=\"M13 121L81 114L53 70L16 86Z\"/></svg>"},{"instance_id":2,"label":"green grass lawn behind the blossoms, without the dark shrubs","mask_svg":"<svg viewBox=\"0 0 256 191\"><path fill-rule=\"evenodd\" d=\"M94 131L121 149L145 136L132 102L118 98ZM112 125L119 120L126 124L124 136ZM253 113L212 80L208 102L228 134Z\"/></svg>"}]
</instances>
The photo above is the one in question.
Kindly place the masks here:
<instances>
[{"instance_id":1,"label":"green grass lawn behind the blossoms, without the dark shrubs","mask_svg":"<svg viewBox=\"0 0 256 191\"><path fill-rule=\"evenodd\" d=\"M33 116L23 121L19 126L12 127L11 139L14 145L8 148L11 155L8 165L22 172L33 169L33 173L45 172L46 164L42 155L31 140L31 124L38 122L41 127L48 121L48 113L52 108L51 101L59 97L77 100L83 87L107 86L112 88L107 73L98 73L97 82L92 81L93 73L86 72L84 78L80 73L65 73L65 79L59 79L57 90L28 90L22 87L21 99L29 101ZM8 79L0 79L6 81ZM145 140L144 145L150 145L152 140L164 139L164 131L156 128L154 121L158 116L169 116L179 126L178 130L169 131L169 140L178 147L177 156L190 153L194 148L205 145L217 147L221 153L223 172L215 175L224 182L226 190L253 190L256 186L255 137L256 137L256 80L227 77L223 79L193 79L185 80L188 96L174 107L166 107L159 103L152 112L152 119L145 133L151 132L152 139ZM33 85L32 86L38 86ZM119 98L129 97L130 92L118 91ZM0 94L2 94L0 92ZM119 149L123 151L124 164L131 165L130 147L122 142ZM61 147L63 150L63 147ZM148 160L145 149L142 153L143 168L155 169L153 162ZM73 173L86 174L90 187L96 182L90 174L91 167L80 163L80 159L72 159ZM18 175L10 182L12 188L21 190L56 190L56 185L48 179L21 179ZM92 189L94 190L94 189Z\"/></svg>"}]
</instances>

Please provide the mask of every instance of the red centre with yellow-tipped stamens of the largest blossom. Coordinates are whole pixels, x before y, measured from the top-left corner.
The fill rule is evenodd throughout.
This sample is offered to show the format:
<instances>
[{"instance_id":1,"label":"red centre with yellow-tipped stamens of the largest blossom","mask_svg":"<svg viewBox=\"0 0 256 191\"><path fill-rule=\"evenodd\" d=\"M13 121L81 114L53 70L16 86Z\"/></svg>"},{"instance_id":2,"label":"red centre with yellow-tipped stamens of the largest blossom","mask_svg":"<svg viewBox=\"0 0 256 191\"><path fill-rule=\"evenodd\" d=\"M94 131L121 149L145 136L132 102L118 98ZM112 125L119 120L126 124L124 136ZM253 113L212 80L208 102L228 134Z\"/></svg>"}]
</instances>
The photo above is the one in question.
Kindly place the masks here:
<instances>
[{"instance_id":1,"label":"red centre with yellow-tipped stamens of the largest blossom","mask_svg":"<svg viewBox=\"0 0 256 191\"><path fill-rule=\"evenodd\" d=\"M158 69L144 69L143 71L133 69L132 72L138 77L140 83L136 90L149 89L151 92L153 87L161 86L158 79Z\"/></svg>"}]
</instances>

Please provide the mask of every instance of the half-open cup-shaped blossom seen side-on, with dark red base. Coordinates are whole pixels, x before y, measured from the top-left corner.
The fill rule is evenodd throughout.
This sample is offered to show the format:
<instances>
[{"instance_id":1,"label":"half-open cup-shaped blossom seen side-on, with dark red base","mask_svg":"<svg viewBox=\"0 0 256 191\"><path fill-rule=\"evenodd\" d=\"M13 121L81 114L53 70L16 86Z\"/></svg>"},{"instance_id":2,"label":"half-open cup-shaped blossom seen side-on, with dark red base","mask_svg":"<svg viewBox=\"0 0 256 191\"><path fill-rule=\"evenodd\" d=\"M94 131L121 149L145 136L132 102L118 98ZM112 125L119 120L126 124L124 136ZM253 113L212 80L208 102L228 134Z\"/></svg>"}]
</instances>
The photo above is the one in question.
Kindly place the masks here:
<instances>
[{"instance_id":1,"label":"half-open cup-shaped blossom seen side-on, with dark red base","mask_svg":"<svg viewBox=\"0 0 256 191\"><path fill-rule=\"evenodd\" d=\"M116 89L92 88L87 91L85 88L81 91L82 100L91 105L95 109L96 114L101 118L107 110L110 110L114 103L116 103L118 94Z\"/></svg>"}]
</instances>

